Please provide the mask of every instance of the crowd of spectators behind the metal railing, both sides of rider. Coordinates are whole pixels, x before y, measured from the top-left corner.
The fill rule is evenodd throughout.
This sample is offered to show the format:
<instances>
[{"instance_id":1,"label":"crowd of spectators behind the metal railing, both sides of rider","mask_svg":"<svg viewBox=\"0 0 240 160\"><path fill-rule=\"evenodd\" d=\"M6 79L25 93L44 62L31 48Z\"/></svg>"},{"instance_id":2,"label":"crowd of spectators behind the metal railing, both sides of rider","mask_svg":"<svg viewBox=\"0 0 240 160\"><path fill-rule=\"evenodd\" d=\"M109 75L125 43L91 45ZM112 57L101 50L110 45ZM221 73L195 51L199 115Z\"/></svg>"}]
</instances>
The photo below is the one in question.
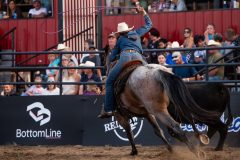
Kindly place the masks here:
<instances>
[{"instance_id":1,"label":"crowd of spectators behind the metal railing, both sides of rider","mask_svg":"<svg viewBox=\"0 0 240 160\"><path fill-rule=\"evenodd\" d=\"M224 61L234 58L233 62L240 62L239 49L213 49L205 50L204 47L221 47L221 46L239 46L240 36L232 28L228 28L224 38L221 34L215 32L214 24L206 26L206 31L202 35L194 35L191 28L185 28L182 33L183 42L170 42L161 37L157 28L152 28L144 37L142 37L143 48L149 49L144 52L143 56L148 63L155 63L169 67L169 69L183 81L195 80L223 80L234 79L234 73L240 75L240 66L217 66L209 67L208 77L206 77L206 68L204 66L196 67L174 67L169 65L182 64L221 64ZM59 95L60 85L51 84L52 82L64 83L62 85L62 95L99 95L104 93L104 87L101 85L103 79L108 74L107 68L111 65L108 55L114 49L117 42L117 35L110 33L107 37L107 44L104 47L104 54L94 53L97 51L94 41L87 39L84 42L84 51L88 54L82 54L78 59L75 54L67 53L69 47L59 44L56 49L48 54L49 67L59 67L60 61L65 69L60 74L59 69L46 69L43 73L37 72L34 75L35 85L25 86L24 92L19 94L22 96L36 95ZM151 51L151 49L181 49L181 48L201 48L193 51ZM62 52L62 59L55 51ZM151 52L150 52L151 51ZM227 56L225 56L227 54ZM84 56L83 56L84 55ZM221 57L225 57L221 59ZM238 58L237 58L238 57ZM219 60L221 59L221 60ZM92 67L104 66L104 69L93 69ZM69 67L69 68L67 68ZM60 77L62 75L62 77ZM48 82L47 85L41 85L40 82ZM89 84L74 84L74 83ZM39 83L39 84L38 84ZM97 84L96 84L97 83ZM4 85L2 87L2 96L16 95L12 85Z\"/></svg>"}]
</instances>

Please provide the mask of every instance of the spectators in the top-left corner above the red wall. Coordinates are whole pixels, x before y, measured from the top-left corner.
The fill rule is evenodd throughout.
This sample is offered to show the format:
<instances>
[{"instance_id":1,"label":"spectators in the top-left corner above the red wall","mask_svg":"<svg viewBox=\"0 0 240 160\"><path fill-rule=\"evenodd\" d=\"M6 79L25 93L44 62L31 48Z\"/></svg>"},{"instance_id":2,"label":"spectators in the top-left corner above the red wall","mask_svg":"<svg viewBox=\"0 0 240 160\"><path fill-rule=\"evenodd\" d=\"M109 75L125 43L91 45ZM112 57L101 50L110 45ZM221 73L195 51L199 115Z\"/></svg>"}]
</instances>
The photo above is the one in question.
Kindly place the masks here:
<instances>
[{"instance_id":1,"label":"spectators in the top-left corner above the red wall","mask_svg":"<svg viewBox=\"0 0 240 160\"><path fill-rule=\"evenodd\" d=\"M51 16L52 4L49 0L30 0L29 4L32 5L32 8L27 14L23 14L21 8L18 7L21 4L21 2L17 3L16 0L0 0L0 19L44 18Z\"/></svg>"}]
</instances>

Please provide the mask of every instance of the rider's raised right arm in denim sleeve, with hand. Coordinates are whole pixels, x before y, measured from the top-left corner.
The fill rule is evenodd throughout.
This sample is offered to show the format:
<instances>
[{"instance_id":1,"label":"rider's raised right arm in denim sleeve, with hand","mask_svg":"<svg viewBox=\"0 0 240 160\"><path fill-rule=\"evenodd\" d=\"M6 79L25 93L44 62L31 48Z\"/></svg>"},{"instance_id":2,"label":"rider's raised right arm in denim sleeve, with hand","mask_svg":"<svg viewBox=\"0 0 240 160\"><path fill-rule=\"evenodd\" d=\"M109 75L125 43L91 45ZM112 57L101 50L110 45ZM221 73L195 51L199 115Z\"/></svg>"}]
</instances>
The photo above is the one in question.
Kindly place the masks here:
<instances>
[{"instance_id":1,"label":"rider's raised right arm in denim sleeve, with hand","mask_svg":"<svg viewBox=\"0 0 240 160\"><path fill-rule=\"evenodd\" d=\"M144 9L142 10L142 14L144 16L145 25L136 30L140 37L143 36L152 28L152 21Z\"/></svg>"}]
</instances>

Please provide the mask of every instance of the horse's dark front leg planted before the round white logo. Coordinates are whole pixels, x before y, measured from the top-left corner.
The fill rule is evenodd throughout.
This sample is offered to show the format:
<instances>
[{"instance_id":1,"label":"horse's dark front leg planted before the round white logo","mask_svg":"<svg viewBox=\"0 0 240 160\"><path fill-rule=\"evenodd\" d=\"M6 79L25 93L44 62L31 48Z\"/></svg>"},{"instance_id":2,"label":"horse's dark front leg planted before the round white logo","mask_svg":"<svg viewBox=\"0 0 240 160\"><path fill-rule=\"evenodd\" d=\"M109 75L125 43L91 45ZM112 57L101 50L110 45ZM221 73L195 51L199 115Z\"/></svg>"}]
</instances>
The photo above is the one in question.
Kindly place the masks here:
<instances>
[{"instance_id":1,"label":"horse's dark front leg planted before the round white logo","mask_svg":"<svg viewBox=\"0 0 240 160\"><path fill-rule=\"evenodd\" d=\"M131 126L128 122L129 119L125 116L120 115L119 113L116 113L114 116L117 119L118 123L125 129L125 131L127 133L128 140L129 140L129 142L132 146L132 151L131 151L130 154L131 155L137 155L138 151L137 151L137 148L135 146Z\"/></svg>"}]
</instances>

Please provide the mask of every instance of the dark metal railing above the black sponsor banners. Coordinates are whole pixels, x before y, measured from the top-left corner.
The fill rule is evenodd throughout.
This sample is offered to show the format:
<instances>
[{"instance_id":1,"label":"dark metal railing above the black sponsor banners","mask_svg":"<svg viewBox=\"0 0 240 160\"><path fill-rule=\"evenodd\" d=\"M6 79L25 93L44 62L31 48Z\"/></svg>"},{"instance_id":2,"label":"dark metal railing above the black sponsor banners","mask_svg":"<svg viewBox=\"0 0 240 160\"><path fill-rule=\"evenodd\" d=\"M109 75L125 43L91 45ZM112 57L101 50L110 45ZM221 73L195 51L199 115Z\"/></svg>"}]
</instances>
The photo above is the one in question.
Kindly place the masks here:
<instances>
[{"instance_id":1,"label":"dark metal railing above the black sponsor banners","mask_svg":"<svg viewBox=\"0 0 240 160\"><path fill-rule=\"evenodd\" d=\"M232 50L236 50L236 49L240 49L240 46L238 47L208 47L208 48L191 48L191 49L180 49L180 48L174 48L174 49L153 49L153 50L144 50L145 52L173 52L173 51L196 51L196 50L222 50L222 49L232 49ZM41 83L35 83L35 82L0 82L0 85L4 85L4 84L12 84L12 85L33 85L33 84L43 84L43 85L47 85L47 84L56 84L59 85L60 87L60 95L62 95L62 85L88 85L88 84L97 84L97 85L101 85L104 84L103 82L62 82L62 71L64 69L103 69L103 66L97 66L97 67L82 67L82 66L78 66L78 67L63 67L62 66L62 55L63 54L103 54L104 51L74 51L74 52L51 52L51 54L59 54L59 60L60 60L60 65L59 67L20 67L20 66L16 66L16 67L0 67L0 72L1 71L14 71L14 72L19 72L19 71L32 71L32 70L46 70L46 69L56 69L59 70L59 81L58 82L41 82ZM0 54L14 54L14 55L28 55L28 54L36 54L36 55L46 55L49 54L49 52L44 51L44 52L5 52L5 53L0 53ZM228 55L230 55L230 53L228 53ZM225 56L221 57L220 59L218 59L216 62L220 61L221 59L223 59ZM238 57L239 58L239 57ZM207 61L206 61L207 62ZM209 67L219 67L219 66L240 66L240 62L231 62L231 63L213 63L213 64L182 64L182 65L168 65L166 67L197 67L197 66L202 66L205 67L206 70L206 75L208 75L209 72ZM235 73L236 74L236 73ZM239 79L234 79L234 80L215 80L215 81L209 81L208 78L206 78L206 80L204 81L191 81L188 83L225 83L225 84L232 84L234 87L238 87L240 86L240 80Z\"/></svg>"}]
</instances>

